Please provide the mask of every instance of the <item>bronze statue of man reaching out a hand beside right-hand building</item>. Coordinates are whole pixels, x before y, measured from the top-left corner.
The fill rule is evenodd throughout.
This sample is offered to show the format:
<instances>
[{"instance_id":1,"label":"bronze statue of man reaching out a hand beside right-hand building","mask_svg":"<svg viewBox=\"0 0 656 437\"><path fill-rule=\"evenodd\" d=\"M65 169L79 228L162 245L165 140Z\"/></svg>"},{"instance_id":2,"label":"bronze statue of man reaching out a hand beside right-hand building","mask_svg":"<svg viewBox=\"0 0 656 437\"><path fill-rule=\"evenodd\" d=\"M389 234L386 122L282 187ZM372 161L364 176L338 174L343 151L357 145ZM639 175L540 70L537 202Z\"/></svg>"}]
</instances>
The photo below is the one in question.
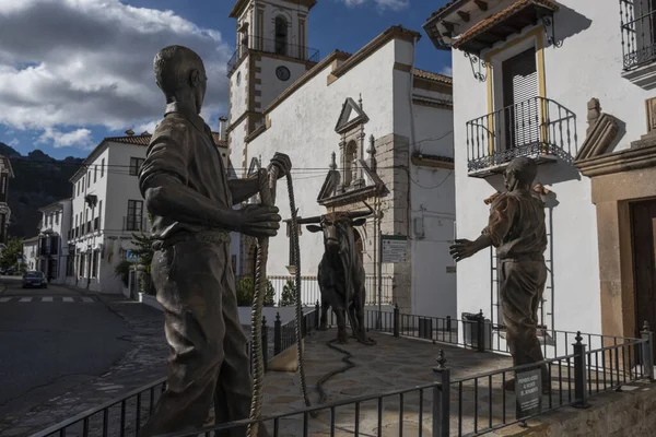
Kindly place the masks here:
<instances>
[{"instance_id":1,"label":"bronze statue of man reaching out a hand beside right-hand building","mask_svg":"<svg viewBox=\"0 0 656 437\"><path fill-rule=\"evenodd\" d=\"M547 281L547 228L544 204L531 190L537 164L529 157L513 160L505 169L506 192L490 205L488 226L475 241L456 239L450 253L456 261L494 246L499 257L499 296L506 327L507 343L515 366L544 359L537 336L538 307ZM549 386L544 364L542 387ZM513 390L514 381L505 389Z\"/></svg>"}]
</instances>

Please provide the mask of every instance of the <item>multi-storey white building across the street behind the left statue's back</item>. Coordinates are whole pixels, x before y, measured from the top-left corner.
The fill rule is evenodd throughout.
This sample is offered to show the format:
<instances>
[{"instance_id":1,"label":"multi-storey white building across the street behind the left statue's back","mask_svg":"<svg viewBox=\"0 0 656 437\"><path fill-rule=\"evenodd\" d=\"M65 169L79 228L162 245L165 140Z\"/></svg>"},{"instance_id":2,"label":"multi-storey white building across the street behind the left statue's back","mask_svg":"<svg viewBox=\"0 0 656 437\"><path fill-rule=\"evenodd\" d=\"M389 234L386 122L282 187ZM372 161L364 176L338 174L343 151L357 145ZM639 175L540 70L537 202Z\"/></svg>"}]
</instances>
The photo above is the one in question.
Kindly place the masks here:
<instances>
[{"instance_id":1,"label":"multi-storey white building across the street behind the left statue's back","mask_svg":"<svg viewBox=\"0 0 656 437\"><path fill-rule=\"evenodd\" d=\"M227 158L225 141L213 133ZM102 293L121 293L116 267L133 249L132 235L150 233L148 213L139 190L139 167L151 134L105 138L84 160L73 177L67 283Z\"/></svg>"}]
</instances>

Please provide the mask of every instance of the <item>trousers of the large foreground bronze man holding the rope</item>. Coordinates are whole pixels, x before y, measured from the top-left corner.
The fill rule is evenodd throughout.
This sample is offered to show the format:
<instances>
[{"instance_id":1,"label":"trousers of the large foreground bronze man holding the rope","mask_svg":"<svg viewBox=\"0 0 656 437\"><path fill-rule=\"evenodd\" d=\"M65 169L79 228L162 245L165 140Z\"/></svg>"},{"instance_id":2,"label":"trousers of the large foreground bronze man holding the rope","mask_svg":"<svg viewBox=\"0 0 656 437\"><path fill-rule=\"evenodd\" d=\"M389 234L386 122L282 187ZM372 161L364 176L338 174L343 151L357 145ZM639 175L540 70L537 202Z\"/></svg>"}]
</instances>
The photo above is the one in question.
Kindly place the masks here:
<instances>
[{"instance_id":1,"label":"trousers of the large foreground bronze man holding the rope","mask_svg":"<svg viewBox=\"0 0 656 437\"><path fill-rule=\"evenodd\" d=\"M151 265L164 308L168 388L139 436L197 429L214 403L215 423L248 418L253 381L226 240L189 239L155 251ZM218 434L245 436L246 427ZM260 426L260 436L267 430Z\"/></svg>"}]
</instances>

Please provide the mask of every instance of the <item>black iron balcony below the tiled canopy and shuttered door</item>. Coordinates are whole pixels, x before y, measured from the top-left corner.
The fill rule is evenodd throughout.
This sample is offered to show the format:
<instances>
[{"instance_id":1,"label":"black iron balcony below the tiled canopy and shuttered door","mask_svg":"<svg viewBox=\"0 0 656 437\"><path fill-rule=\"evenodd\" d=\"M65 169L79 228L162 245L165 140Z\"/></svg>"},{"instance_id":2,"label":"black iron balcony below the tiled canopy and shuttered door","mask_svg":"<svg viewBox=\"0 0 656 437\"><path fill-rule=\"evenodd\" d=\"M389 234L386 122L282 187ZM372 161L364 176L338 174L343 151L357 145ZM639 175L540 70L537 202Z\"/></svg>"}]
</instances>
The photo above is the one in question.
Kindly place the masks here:
<instances>
[{"instance_id":1,"label":"black iron balcony below the tiled canopy and shuttered door","mask_svg":"<svg viewBox=\"0 0 656 437\"><path fill-rule=\"evenodd\" d=\"M516 157L538 164L576 154L576 115L544 97L531 97L467 122L467 170L471 177L503 173Z\"/></svg>"}]
</instances>

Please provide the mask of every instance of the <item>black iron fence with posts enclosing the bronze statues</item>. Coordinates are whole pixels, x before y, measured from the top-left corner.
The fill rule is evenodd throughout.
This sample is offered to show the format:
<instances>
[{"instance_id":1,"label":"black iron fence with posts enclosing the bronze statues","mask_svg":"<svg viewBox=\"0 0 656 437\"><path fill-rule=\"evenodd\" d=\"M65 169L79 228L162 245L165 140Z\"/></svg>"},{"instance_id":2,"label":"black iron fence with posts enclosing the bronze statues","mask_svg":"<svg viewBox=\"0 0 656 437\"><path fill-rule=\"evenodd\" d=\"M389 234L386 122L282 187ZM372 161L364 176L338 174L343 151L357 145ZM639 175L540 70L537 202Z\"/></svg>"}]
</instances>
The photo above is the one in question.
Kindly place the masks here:
<instances>
[{"instance_id":1,"label":"black iron fence with posts enclosing the bronze statues","mask_svg":"<svg viewBox=\"0 0 656 437\"><path fill-rule=\"evenodd\" d=\"M376 330L395 336L408 335L459 344L479 352L494 350L488 349L488 345L493 346L493 343L485 341L485 324L490 324L489 321L480 314L475 316L478 317L461 320L449 317L430 318L401 314L398 306L395 306L393 311L366 311L366 323L377 326ZM302 334L305 335L315 329L318 322L318 311L306 314L303 318ZM280 318L277 318L273 334L274 354L295 343L294 323L295 321L281 323ZM269 344L269 329L266 322L262 328L262 342ZM601 343L610 344L595 349L585 343L586 340L597 336ZM431 383L375 395L348 398L320 406L262 417L257 422L267 426L273 436L309 436L317 432L335 435L338 428L358 436L362 433L365 421L370 428L372 423L377 425L378 435L383 429L398 429L399 436L421 436L424 433L435 437L478 436L523 423L562 406L585 408L590 397L617 390L639 379L654 380L653 333L646 323L641 339L605 338L576 332L571 338L571 343L562 349L569 353L546 358L540 363L460 378L452 378L441 350L437 366L432 369ZM547 374L542 375L539 371L540 366L546 368ZM77 430L83 436L137 435L165 388L165 378L159 379L121 399L78 414L34 436L63 436L68 430ZM529 397L528 402L523 402L527 393L534 395ZM295 420L296 428L290 429L290 423L294 421L289 420ZM244 420L167 436L211 436L216 430L245 428L250 423L253 422Z\"/></svg>"}]
</instances>

